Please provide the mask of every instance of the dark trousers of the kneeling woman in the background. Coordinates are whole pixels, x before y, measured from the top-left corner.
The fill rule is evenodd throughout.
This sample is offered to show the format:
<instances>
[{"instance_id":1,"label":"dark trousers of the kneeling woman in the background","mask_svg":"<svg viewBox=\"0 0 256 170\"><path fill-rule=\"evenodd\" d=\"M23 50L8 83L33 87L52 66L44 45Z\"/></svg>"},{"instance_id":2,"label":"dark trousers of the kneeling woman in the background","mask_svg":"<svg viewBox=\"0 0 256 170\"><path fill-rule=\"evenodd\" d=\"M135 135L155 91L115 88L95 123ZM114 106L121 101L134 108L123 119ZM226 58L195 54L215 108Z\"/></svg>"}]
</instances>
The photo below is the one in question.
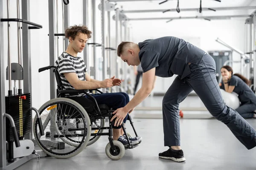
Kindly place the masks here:
<instances>
[{"instance_id":1,"label":"dark trousers of the kneeling woman in the background","mask_svg":"<svg viewBox=\"0 0 256 170\"><path fill-rule=\"evenodd\" d=\"M244 118L253 118L254 112L256 110L255 104L244 104L241 105L239 108L236 109L236 111Z\"/></svg>"}]
</instances>

